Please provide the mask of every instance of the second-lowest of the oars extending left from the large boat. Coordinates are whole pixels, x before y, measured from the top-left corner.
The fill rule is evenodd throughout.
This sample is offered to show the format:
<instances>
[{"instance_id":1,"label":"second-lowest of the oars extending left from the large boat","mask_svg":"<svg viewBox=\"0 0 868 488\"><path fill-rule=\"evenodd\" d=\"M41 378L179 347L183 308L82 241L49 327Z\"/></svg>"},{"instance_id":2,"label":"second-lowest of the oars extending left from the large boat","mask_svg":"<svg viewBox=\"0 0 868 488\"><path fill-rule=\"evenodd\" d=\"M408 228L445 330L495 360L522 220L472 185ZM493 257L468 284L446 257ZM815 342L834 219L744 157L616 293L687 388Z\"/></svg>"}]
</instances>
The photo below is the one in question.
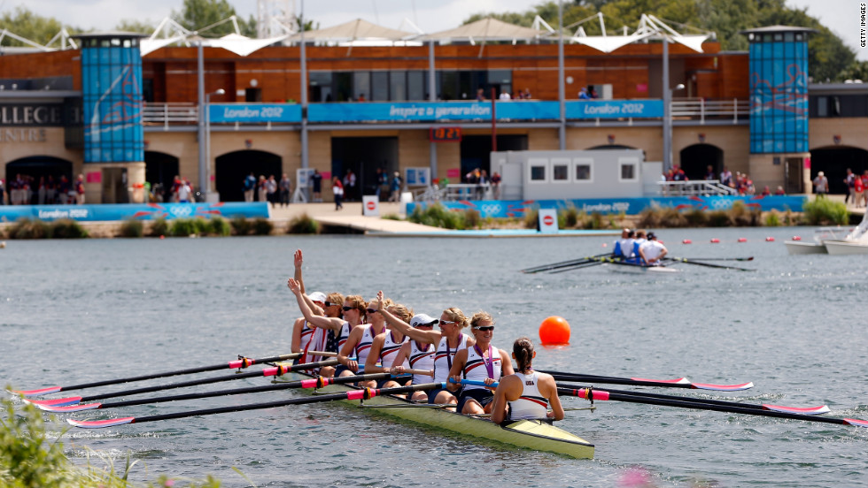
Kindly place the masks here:
<instances>
[{"instance_id":1,"label":"second-lowest of the oars extending left from the large boat","mask_svg":"<svg viewBox=\"0 0 868 488\"><path fill-rule=\"evenodd\" d=\"M389 373L372 373L369 375L345 376L345 377L316 377L314 379L302 379L299 381L288 381L286 383L277 383L274 385L253 386L251 388L236 388L234 390L218 390L216 392L206 393L186 393L182 395L171 395L165 397L145 398L141 400L126 400L115 401L113 403L81 403L78 405L36 405L48 412L81 412L82 410L97 410L105 408L117 407L132 407L134 405L148 405L151 403L162 403L165 401L180 401L180 400L198 400L200 398L212 398L218 396L241 395L246 393L263 393L273 392L275 390L287 390L291 388L323 388L328 385L342 385L344 383L354 383L356 381L370 381L376 379L384 379L392 377Z\"/></svg>"}]
</instances>

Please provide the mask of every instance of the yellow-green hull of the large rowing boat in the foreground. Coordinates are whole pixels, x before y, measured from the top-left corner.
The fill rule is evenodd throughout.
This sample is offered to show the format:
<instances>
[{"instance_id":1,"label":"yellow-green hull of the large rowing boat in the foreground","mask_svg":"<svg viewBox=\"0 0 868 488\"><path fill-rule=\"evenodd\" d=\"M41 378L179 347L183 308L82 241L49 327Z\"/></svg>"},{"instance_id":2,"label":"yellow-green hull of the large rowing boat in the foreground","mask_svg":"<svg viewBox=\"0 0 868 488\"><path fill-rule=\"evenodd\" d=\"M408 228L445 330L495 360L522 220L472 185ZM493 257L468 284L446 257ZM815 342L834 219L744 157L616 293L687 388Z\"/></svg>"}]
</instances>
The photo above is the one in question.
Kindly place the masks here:
<instances>
[{"instance_id":1,"label":"yellow-green hull of the large rowing boat in the foreground","mask_svg":"<svg viewBox=\"0 0 868 488\"><path fill-rule=\"evenodd\" d=\"M295 372L279 377L277 381L291 381L298 379L298 377L311 378L312 376ZM350 385L329 385L320 391L338 393L353 389L358 388ZM355 400L344 400L344 402L360 405L359 401ZM501 444L536 451L565 454L577 459L593 458L593 444L584 438L539 420L519 420L500 426L481 417L465 416L445 408L430 408L427 404L415 403L391 395L362 400L361 405L368 410L375 410L377 413L453 431L469 437L484 438Z\"/></svg>"}]
</instances>

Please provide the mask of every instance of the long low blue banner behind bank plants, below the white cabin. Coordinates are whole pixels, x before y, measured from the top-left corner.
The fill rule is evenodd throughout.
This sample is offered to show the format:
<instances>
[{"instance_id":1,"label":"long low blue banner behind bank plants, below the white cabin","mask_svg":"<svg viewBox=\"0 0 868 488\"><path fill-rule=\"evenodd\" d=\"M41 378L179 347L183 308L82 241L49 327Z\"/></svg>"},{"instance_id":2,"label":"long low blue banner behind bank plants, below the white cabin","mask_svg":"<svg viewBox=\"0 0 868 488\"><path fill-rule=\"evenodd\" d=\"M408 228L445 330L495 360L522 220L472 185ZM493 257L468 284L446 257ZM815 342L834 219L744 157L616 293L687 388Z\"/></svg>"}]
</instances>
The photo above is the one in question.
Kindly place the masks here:
<instances>
[{"instance_id":1,"label":"long low blue banner behind bank plants, below the white cabin","mask_svg":"<svg viewBox=\"0 0 868 488\"><path fill-rule=\"evenodd\" d=\"M744 202L748 209L762 211L802 211L807 199L803 196L671 196L652 198L600 198L588 200L478 200L440 202L448 210L477 210L480 217L523 217L535 209L566 210L570 206L586 213L637 215L652 206L678 210L727 210L733 202ZM416 206L425 208L429 203L407 203L407 213Z\"/></svg>"}]
</instances>

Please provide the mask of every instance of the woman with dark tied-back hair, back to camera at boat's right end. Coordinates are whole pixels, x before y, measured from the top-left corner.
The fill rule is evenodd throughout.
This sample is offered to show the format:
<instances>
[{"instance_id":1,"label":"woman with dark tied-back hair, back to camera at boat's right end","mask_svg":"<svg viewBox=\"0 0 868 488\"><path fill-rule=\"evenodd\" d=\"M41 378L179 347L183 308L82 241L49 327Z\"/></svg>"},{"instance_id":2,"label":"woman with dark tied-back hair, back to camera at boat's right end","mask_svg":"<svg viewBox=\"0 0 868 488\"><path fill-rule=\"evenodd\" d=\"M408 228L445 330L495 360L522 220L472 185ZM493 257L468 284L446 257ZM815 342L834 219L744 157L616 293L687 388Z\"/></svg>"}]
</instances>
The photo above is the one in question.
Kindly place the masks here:
<instances>
[{"instance_id":1,"label":"woman with dark tied-back hair, back to camera at boat's right end","mask_svg":"<svg viewBox=\"0 0 868 488\"><path fill-rule=\"evenodd\" d=\"M562 420L563 407L561 399L558 398L554 377L534 371L531 366L533 358L537 357L531 339L526 337L515 339L512 357L518 363L518 371L513 375L500 378L500 384L494 391L492 422L501 423L507 417L509 420L526 418ZM509 403L508 416L507 403ZM551 412L548 411L549 405L552 407Z\"/></svg>"}]
</instances>

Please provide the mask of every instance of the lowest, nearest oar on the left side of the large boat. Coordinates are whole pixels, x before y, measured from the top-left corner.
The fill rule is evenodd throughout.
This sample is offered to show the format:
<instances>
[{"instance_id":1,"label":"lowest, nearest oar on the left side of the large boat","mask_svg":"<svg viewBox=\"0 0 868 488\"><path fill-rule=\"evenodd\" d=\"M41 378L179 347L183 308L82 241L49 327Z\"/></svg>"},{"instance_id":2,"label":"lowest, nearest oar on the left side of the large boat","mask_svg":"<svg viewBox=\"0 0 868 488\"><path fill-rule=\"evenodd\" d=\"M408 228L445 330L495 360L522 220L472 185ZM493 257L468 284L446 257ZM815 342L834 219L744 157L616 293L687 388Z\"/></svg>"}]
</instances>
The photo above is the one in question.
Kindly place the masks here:
<instances>
[{"instance_id":1,"label":"lowest, nearest oar on the left side of the large boat","mask_svg":"<svg viewBox=\"0 0 868 488\"><path fill-rule=\"evenodd\" d=\"M155 422L158 420L170 420L175 418L185 418L191 416L210 416L213 414L225 414L229 412L244 412L247 410L258 410L262 408L286 407L288 405L305 405L307 403L319 403L322 401L332 400L369 400L376 396L419 392L430 390L433 388L443 388L445 383L425 383L422 385L398 386L395 388L361 388L343 393L331 393L328 395L312 396L305 398L293 398L290 400L269 401L266 403L251 403L247 405L233 405L231 407L221 408L205 408L203 410L190 410L187 412L175 412L173 414L163 414L160 416L143 416L143 417L123 417L110 418L106 420L74 420L66 419L66 422L81 427L83 429L101 429L104 427L113 427L115 425L123 425L125 423L145 423Z\"/></svg>"}]
</instances>

